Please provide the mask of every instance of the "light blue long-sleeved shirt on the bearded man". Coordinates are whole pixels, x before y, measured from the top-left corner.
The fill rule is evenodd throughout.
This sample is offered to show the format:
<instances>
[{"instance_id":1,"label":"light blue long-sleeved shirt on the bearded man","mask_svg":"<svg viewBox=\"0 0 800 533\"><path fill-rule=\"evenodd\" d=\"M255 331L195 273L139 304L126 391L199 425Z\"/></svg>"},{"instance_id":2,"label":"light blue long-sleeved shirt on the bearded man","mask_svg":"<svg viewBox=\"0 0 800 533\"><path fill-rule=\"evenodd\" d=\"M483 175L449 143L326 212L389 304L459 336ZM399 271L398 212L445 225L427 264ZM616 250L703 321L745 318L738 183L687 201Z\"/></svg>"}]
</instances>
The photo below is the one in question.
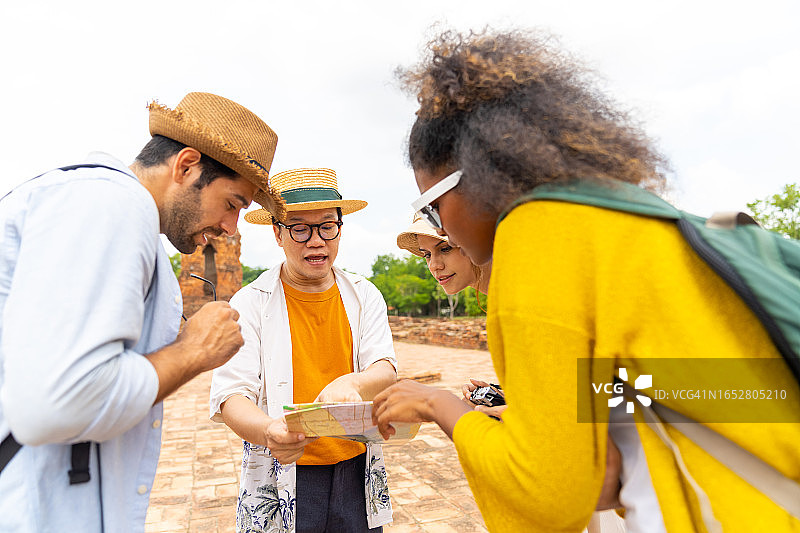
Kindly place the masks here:
<instances>
[{"instance_id":1,"label":"light blue long-sleeved shirt on the bearded man","mask_svg":"<svg viewBox=\"0 0 800 533\"><path fill-rule=\"evenodd\" d=\"M120 161L55 170L0 201L0 531L142 531L161 446L155 369L182 300L150 193ZM91 448L70 485L70 443ZM101 485L102 480L102 485ZM100 495L102 486L102 497ZM102 508L101 508L102 506Z\"/></svg>"}]
</instances>

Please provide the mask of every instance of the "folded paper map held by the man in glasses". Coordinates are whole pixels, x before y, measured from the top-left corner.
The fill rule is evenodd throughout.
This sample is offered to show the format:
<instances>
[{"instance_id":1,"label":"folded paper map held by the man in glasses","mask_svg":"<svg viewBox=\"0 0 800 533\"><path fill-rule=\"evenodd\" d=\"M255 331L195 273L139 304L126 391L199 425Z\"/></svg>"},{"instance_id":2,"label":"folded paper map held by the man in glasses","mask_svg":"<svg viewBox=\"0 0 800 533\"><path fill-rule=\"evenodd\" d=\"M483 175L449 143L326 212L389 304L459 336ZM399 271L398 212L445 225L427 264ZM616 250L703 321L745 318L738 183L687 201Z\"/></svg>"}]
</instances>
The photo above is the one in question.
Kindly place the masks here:
<instances>
[{"instance_id":1,"label":"folded paper map held by the man in glasses","mask_svg":"<svg viewBox=\"0 0 800 533\"><path fill-rule=\"evenodd\" d=\"M298 403L283 406L289 431L308 437L338 437L358 442L403 444L413 439L419 424L392 423L395 434L388 441L372 423L372 402Z\"/></svg>"}]
</instances>

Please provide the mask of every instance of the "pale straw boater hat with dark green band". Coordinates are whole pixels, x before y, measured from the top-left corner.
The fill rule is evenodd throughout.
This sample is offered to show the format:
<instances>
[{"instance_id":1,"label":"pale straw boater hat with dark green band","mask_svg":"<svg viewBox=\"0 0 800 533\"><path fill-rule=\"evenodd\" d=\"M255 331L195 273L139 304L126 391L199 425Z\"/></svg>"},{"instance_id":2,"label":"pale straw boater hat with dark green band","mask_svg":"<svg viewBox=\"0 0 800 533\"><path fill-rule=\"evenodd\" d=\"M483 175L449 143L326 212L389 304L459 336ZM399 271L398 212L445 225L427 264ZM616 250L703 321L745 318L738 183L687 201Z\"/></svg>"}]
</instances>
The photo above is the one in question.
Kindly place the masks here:
<instances>
[{"instance_id":1,"label":"pale straw boater hat with dark green band","mask_svg":"<svg viewBox=\"0 0 800 533\"><path fill-rule=\"evenodd\" d=\"M281 195L287 212L338 207L343 215L348 215L367 205L363 200L342 200L336 172L329 168L286 170L273 175L269 183L275 194ZM278 219L281 218L278 215ZM244 219L252 224L272 224L273 220L272 213L267 209L245 213Z\"/></svg>"}]
</instances>

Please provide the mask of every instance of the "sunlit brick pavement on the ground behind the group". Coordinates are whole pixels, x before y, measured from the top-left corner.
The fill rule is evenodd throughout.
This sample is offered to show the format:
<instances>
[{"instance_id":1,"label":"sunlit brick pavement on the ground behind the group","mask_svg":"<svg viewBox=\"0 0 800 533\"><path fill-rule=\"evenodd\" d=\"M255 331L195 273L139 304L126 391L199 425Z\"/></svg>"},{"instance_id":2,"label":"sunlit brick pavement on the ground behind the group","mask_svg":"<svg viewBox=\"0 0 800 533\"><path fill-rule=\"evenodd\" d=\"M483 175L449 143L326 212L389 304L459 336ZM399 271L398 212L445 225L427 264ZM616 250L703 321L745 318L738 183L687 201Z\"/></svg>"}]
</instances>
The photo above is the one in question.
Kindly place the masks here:
<instances>
[{"instance_id":1,"label":"sunlit brick pavement on the ground behind the group","mask_svg":"<svg viewBox=\"0 0 800 533\"><path fill-rule=\"evenodd\" d=\"M433 386L461 389L467 378L494 380L489 353L395 343L401 375L441 373ZM235 531L242 442L208 420L211 374L198 376L164 402L161 459L150 494L145 531ZM386 446L394 507L387 533L485 532L455 448L434 424L406 445Z\"/></svg>"}]
</instances>

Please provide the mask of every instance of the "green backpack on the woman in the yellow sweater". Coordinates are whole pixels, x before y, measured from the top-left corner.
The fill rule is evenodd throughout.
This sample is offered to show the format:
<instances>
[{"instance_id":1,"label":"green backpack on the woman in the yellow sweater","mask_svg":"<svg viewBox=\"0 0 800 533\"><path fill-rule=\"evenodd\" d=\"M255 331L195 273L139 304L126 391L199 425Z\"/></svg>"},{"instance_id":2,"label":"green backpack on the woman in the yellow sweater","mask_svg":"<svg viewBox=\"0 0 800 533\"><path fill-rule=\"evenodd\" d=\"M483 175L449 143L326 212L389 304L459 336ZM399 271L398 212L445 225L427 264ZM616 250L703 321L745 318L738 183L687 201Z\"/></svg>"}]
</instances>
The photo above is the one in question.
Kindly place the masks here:
<instances>
[{"instance_id":1,"label":"green backpack on the woman in the yellow sweater","mask_svg":"<svg viewBox=\"0 0 800 533\"><path fill-rule=\"evenodd\" d=\"M745 213L705 219L636 185L571 180L539 185L501 215L533 200L557 200L672 220L686 242L753 310L800 383L800 241L760 227Z\"/></svg>"}]
</instances>

